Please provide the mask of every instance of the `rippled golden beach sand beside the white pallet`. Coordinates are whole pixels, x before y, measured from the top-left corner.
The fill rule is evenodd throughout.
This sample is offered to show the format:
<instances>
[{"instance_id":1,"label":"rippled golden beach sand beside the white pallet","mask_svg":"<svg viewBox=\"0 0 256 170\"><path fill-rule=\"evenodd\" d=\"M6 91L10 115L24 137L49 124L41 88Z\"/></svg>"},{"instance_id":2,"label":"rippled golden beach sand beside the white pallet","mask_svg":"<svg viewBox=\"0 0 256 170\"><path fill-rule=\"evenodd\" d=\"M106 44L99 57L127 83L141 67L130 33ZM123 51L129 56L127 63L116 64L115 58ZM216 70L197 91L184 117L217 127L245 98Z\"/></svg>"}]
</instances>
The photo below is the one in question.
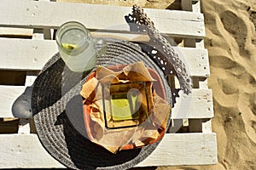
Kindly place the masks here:
<instances>
[{"instance_id":1,"label":"rippled golden beach sand beside the white pallet","mask_svg":"<svg viewBox=\"0 0 256 170\"><path fill-rule=\"evenodd\" d=\"M180 8L178 0L76 2L81 1ZM157 169L256 169L256 1L203 0L201 11L205 15L205 46L211 65L208 85L213 92L212 131L218 138L218 164Z\"/></svg>"}]
</instances>

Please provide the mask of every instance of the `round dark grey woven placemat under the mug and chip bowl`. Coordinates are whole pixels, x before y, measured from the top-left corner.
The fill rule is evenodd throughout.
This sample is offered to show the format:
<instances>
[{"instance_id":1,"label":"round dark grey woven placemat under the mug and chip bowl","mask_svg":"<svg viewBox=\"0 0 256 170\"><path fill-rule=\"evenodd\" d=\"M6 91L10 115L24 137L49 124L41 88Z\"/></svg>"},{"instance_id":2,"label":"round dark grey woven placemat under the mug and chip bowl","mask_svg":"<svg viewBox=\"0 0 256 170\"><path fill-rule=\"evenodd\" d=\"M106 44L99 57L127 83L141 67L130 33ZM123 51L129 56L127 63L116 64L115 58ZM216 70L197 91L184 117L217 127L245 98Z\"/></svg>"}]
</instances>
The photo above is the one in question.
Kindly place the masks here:
<instances>
[{"instance_id":1,"label":"round dark grey woven placemat under the mug and chip bowl","mask_svg":"<svg viewBox=\"0 0 256 170\"><path fill-rule=\"evenodd\" d=\"M106 54L97 58L97 65L129 65L137 61L156 71L164 84L167 102L172 94L160 68L131 42L106 39ZM99 47L98 47L99 48ZM135 150L113 154L93 144L84 129L80 89L90 74L67 69L59 54L55 54L38 75L32 91L32 111L38 137L49 154L63 165L79 169L127 169L143 161L159 142ZM171 114L167 125L169 126ZM80 126L81 125L81 126ZM82 126L83 125L83 126Z\"/></svg>"}]
</instances>

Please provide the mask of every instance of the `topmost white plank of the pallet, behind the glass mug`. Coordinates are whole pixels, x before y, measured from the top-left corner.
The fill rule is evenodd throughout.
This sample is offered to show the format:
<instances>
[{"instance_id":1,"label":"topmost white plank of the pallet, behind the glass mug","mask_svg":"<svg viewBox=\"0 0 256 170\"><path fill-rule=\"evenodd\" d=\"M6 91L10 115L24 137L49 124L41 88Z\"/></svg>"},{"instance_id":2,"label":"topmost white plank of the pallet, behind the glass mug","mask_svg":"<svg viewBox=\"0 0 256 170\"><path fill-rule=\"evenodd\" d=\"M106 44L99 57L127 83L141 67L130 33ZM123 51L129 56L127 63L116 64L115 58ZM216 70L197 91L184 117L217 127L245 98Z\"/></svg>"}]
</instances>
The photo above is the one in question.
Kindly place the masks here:
<instances>
[{"instance_id":1,"label":"topmost white plank of the pallet, behind the glass mug","mask_svg":"<svg viewBox=\"0 0 256 170\"><path fill-rule=\"evenodd\" d=\"M205 36L202 14L149 8L144 10L163 33L181 37ZM131 7L2 0L0 11L0 26L57 28L67 20L78 20L90 29L130 31L124 17L131 13Z\"/></svg>"}]
</instances>

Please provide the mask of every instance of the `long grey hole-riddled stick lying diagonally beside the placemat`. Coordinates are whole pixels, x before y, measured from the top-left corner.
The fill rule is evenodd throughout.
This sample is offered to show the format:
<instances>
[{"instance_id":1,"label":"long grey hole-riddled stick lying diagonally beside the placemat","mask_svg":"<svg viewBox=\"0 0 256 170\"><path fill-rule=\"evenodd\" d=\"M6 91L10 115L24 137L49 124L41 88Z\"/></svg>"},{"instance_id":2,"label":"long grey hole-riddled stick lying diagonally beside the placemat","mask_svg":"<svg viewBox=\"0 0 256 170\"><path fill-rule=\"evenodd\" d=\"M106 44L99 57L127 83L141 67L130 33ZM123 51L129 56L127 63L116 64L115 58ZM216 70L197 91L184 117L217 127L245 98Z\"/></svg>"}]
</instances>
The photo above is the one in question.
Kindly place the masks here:
<instances>
[{"instance_id":1,"label":"long grey hole-riddled stick lying diagonally beside the placemat","mask_svg":"<svg viewBox=\"0 0 256 170\"><path fill-rule=\"evenodd\" d=\"M130 24L131 31L143 31L148 34L150 37L148 43L151 44L152 47L143 46L143 50L160 66L160 69L166 76L174 75L174 69L183 93L190 94L193 84L183 61L180 59L175 49L172 48L171 43L167 41L166 37L163 37L160 31L155 29L154 22L144 13L143 8L134 5L132 14L125 16L125 20Z\"/></svg>"}]
</instances>

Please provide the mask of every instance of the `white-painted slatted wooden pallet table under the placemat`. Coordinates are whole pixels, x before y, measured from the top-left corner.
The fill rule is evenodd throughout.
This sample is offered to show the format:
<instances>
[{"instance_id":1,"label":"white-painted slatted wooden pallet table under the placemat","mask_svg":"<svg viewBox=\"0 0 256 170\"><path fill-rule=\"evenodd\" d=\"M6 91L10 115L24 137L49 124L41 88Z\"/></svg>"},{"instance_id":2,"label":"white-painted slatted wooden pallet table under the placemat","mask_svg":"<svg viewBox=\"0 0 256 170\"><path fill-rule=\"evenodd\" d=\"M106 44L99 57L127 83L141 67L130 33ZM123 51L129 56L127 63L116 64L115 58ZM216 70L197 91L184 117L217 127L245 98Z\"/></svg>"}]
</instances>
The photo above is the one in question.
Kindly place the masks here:
<instances>
[{"instance_id":1,"label":"white-painted slatted wooden pallet table under the placemat","mask_svg":"<svg viewBox=\"0 0 256 170\"><path fill-rule=\"evenodd\" d=\"M216 134L212 133L212 90L207 87L210 76L207 49L204 48L204 17L200 1L182 0L183 10L149 9L144 11L155 27L169 37L179 38L179 50L194 81L193 95L180 93L172 108L172 125L154 152L137 167L207 165L217 163ZM32 86L38 71L58 49L55 29L68 20L87 26L95 37L118 37L145 41L146 37L131 34L124 16L131 8L85 3L2 0L0 5L0 127L10 126L14 118L12 105L26 88ZM86 12L85 12L86 11ZM3 75L6 74L6 77ZM17 76L18 75L18 76ZM20 78L19 84L10 79ZM177 82L176 77L170 77ZM172 88L179 88L172 83ZM180 114L182 102L190 105ZM32 128L32 119L13 122L13 130L0 132L0 168L64 167L55 161L39 142ZM20 124L18 126L18 124ZM165 159L163 159L163 157Z\"/></svg>"}]
</instances>

